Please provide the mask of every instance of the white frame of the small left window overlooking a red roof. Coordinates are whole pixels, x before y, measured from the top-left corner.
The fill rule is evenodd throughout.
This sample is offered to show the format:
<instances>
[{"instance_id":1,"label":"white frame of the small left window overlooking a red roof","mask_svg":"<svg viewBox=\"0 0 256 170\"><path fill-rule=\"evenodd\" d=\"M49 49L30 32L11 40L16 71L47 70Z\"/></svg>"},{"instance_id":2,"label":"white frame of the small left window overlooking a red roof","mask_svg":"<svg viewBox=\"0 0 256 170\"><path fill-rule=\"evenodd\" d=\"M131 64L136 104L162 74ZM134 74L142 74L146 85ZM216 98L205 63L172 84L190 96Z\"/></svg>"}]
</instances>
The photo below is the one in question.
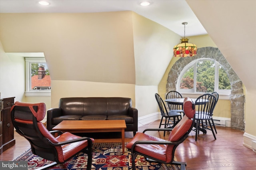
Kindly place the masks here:
<instances>
[{"instance_id":1,"label":"white frame of the small left window overlooking a red roof","mask_svg":"<svg viewBox=\"0 0 256 170\"><path fill-rule=\"evenodd\" d=\"M25 57L26 63L26 91L25 96L51 96L51 89L49 90L35 90L31 89L31 63L46 63L44 57ZM47 63L46 63L47 64Z\"/></svg>"}]
</instances>

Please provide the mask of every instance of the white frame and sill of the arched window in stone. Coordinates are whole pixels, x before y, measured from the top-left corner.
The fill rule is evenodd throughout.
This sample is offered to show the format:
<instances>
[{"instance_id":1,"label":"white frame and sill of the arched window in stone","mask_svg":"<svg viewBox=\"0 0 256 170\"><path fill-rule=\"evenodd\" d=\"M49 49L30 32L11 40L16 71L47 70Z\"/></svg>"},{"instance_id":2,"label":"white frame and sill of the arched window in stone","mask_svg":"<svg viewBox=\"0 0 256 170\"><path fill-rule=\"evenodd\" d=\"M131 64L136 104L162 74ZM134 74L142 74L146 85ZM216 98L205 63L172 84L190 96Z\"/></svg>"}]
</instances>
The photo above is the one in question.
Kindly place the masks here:
<instances>
[{"instance_id":1,"label":"white frame and sill of the arched window in stone","mask_svg":"<svg viewBox=\"0 0 256 170\"><path fill-rule=\"evenodd\" d=\"M182 80L183 75L186 73L186 71L188 71L188 69L190 69L191 67L194 66L194 76L196 76L196 63L198 61L202 61L202 60L212 60L215 62L215 73L214 73L214 91L216 91L217 93L219 93L219 98L220 99L226 99L229 100L229 96L231 93L231 90L223 90L223 89L218 89L218 68L219 68L219 63L218 61L214 60L214 59L209 59L209 58L200 58L200 59L196 59L192 62L190 62L188 65L186 65L186 67L184 67L184 69L180 72L180 75L178 77L178 81L176 84L176 89L184 94L187 97L193 97L193 98L197 98L199 95L204 94L203 92L196 92L196 78L194 78L194 88L193 89L180 89L180 82ZM216 82L217 81L217 82Z\"/></svg>"}]
</instances>

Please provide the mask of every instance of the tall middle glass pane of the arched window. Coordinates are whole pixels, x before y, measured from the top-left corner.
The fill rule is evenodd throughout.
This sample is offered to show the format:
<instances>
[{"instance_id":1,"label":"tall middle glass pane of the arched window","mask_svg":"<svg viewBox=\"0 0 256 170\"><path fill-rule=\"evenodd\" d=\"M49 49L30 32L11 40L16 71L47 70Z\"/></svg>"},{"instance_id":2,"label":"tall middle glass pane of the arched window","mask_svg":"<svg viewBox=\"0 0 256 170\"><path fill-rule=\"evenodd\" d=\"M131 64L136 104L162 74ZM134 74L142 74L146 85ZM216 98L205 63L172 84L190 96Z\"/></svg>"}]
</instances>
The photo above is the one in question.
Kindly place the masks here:
<instances>
[{"instance_id":1,"label":"tall middle glass pane of the arched window","mask_svg":"<svg viewBox=\"0 0 256 170\"><path fill-rule=\"evenodd\" d=\"M196 65L196 92L214 91L215 63L213 60L198 61Z\"/></svg>"}]
</instances>

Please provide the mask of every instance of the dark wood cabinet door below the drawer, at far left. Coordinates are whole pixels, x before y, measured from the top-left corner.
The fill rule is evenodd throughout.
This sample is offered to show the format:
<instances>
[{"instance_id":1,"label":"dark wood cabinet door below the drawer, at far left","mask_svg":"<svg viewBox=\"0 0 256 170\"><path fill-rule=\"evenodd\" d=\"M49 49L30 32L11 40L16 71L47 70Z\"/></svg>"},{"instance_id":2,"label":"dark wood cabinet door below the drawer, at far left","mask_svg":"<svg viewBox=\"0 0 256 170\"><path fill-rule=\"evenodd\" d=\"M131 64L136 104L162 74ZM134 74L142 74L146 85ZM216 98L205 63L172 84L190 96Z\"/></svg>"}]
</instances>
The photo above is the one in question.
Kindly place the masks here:
<instances>
[{"instance_id":1,"label":"dark wood cabinet door below the drawer, at far left","mask_svg":"<svg viewBox=\"0 0 256 170\"><path fill-rule=\"evenodd\" d=\"M14 138L12 119L10 114L11 108L2 110L2 130L3 130L3 144L9 142Z\"/></svg>"}]
</instances>

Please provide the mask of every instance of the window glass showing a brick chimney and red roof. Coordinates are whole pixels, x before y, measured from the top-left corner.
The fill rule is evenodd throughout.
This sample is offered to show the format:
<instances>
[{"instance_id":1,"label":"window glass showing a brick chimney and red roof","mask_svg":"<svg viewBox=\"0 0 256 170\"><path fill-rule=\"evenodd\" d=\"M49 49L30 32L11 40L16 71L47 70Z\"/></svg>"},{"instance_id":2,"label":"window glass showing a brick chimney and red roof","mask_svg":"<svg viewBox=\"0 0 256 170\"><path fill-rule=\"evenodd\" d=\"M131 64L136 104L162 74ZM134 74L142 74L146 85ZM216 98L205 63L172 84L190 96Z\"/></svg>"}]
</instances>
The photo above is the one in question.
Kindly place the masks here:
<instances>
[{"instance_id":1,"label":"window glass showing a brick chimney and red roof","mask_svg":"<svg viewBox=\"0 0 256 170\"><path fill-rule=\"evenodd\" d=\"M30 63L31 89L50 90L51 78L46 63Z\"/></svg>"}]
</instances>

